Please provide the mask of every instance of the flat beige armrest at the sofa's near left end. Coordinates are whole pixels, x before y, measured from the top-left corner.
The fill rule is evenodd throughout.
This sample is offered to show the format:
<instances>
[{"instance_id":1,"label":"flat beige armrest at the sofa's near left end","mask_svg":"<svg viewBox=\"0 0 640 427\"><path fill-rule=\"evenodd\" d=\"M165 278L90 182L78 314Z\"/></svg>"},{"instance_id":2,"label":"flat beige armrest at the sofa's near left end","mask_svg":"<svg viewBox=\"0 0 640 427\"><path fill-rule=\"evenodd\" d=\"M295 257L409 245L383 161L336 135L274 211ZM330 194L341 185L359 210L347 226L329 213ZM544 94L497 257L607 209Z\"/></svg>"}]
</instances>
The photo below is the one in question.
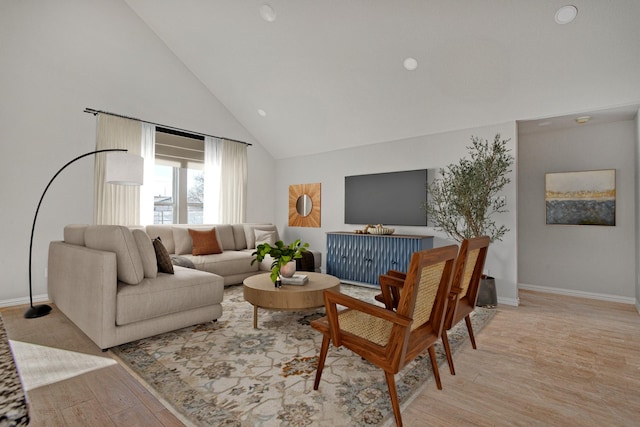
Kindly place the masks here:
<instances>
[{"instance_id":1,"label":"flat beige armrest at the sofa's near left end","mask_svg":"<svg viewBox=\"0 0 640 427\"><path fill-rule=\"evenodd\" d=\"M64 242L49 244L51 301L100 348L116 327L116 254Z\"/></svg>"}]
</instances>

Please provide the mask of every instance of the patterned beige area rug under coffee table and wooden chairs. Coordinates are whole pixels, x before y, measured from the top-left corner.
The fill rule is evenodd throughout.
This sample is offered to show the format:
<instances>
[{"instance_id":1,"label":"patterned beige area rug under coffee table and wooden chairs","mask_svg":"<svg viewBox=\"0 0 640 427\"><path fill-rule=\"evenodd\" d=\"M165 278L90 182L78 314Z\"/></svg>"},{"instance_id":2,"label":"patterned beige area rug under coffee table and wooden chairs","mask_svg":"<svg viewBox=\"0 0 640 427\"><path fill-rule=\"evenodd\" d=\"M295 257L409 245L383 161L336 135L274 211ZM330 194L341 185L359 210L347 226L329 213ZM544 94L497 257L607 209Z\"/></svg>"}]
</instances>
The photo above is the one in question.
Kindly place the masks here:
<instances>
[{"instance_id":1,"label":"patterned beige area rug under coffee table and wooden chairs","mask_svg":"<svg viewBox=\"0 0 640 427\"><path fill-rule=\"evenodd\" d=\"M342 285L373 302L379 291ZM478 307L478 333L494 310ZM331 346L320 388L313 390L322 336L309 323L324 309L278 312L253 306L242 286L225 290L223 315L209 322L135 341L112 352L189 422L197 426L379 426L393 420L384 373L345 348ZM470 346L464 322L449 334L452 350ZM441 375L444 350L436 347ZM443 365L444 364L444 365ZM425 352L398 375L401 404L432 381Z\"/></svg>"}]
</instances>

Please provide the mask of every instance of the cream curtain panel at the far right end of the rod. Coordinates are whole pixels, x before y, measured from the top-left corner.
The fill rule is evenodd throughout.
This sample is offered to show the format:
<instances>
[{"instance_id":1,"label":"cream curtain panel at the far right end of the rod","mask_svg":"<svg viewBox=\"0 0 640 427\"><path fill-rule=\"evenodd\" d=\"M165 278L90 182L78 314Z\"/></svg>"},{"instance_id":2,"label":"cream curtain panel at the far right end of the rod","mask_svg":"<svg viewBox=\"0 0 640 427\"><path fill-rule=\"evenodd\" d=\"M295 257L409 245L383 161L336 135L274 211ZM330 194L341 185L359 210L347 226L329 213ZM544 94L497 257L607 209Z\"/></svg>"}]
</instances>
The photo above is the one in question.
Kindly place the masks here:
<instances>
[{"instance_id":1,"label":"cream curtain panel at the far right end of the rod","mask_svg":"<svg viewBox=\"0 0 640 427\"><path fill-rule=\"evenodd\" d=\"M220 223L245 222L247 209L247 145L222 141Z\"/></svg>"}]
</instances>

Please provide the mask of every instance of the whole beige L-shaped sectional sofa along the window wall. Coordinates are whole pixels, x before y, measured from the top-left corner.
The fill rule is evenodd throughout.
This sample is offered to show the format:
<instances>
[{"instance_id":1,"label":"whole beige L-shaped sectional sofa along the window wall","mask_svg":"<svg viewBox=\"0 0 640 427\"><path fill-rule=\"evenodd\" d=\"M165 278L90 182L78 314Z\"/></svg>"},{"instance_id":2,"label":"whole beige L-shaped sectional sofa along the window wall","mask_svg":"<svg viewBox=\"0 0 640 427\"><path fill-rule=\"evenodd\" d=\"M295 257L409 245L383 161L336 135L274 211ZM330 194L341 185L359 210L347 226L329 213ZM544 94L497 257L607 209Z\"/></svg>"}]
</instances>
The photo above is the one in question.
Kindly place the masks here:
<instances>
[{"instance_id":1,"label":"whole beige L-shaped sectional sofa along the window wall","mask_svg":"<svg viewBox=\"0 0 640 427\"><path fill-rule=\"evenodd\" d=\"M189 228L215 228L221 253L193 255ZM215 320L225 285L269 270L270 260L251 265L256 235L269 233L279 238L271 224L69 225L64 241L49 245L49 298L101 349ZM158 271L157 237L195 269ZM313 254L320 271L320 253Z\"/></svg>"}]
</instances>

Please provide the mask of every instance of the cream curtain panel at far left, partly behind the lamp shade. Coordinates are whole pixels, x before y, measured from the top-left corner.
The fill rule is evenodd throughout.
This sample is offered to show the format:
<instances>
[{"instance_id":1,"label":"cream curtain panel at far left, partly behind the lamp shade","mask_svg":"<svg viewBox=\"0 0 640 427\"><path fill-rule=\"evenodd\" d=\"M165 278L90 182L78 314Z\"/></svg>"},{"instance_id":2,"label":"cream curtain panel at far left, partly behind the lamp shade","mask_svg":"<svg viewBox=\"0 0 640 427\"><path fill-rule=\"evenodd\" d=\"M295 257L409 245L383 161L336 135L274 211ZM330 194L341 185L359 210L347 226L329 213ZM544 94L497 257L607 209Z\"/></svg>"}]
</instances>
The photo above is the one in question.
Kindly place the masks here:
<instances>
[{"instance_id":1,"label":"cream curtain panel at far left, partly behind the lamp shade","mask_svg":"<svg viewBox=\"0 0 640 427\"><path fill-rule=\"evenodd\" d=\"M141 126L109 114L98 114L96 150L126 148L130 154L141 155ZM107 153L96 155L94 172L95 224L138 225L140 221L140 187L112 185L104 182Z\"/></svg>"}]
</instances>

